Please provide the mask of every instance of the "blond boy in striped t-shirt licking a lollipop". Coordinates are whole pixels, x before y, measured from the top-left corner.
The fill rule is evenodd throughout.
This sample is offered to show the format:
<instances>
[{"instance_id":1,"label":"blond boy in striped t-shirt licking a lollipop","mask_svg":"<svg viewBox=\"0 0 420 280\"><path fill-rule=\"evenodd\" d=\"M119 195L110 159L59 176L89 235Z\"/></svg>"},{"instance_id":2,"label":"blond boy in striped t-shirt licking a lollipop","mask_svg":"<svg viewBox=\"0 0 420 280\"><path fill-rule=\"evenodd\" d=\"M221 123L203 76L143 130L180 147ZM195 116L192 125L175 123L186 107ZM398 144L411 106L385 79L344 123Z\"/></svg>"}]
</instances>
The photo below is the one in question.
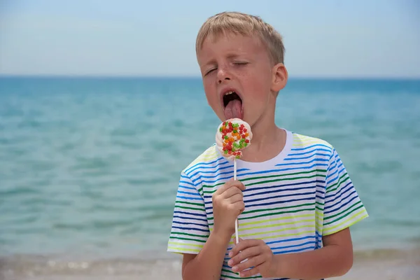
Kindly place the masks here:
<instances>
[{"instance_id":1,"label":"blond boy in striped t-shirt licking a lollipop","mask_svg":"<svg viewBox=\"0 0 420 280\"><path fill-rule=\"evenodd\" d=\"M221 121L246 121L253 139L237 160L237 181L216 146L181 172L168 251L183 253L183 279L348 272L349 226L367 212L330 144L274 123L288 78L281 36L260 18L221 13L204 23L196 48L209 105Z\"/></svg>"}]
</instances>

